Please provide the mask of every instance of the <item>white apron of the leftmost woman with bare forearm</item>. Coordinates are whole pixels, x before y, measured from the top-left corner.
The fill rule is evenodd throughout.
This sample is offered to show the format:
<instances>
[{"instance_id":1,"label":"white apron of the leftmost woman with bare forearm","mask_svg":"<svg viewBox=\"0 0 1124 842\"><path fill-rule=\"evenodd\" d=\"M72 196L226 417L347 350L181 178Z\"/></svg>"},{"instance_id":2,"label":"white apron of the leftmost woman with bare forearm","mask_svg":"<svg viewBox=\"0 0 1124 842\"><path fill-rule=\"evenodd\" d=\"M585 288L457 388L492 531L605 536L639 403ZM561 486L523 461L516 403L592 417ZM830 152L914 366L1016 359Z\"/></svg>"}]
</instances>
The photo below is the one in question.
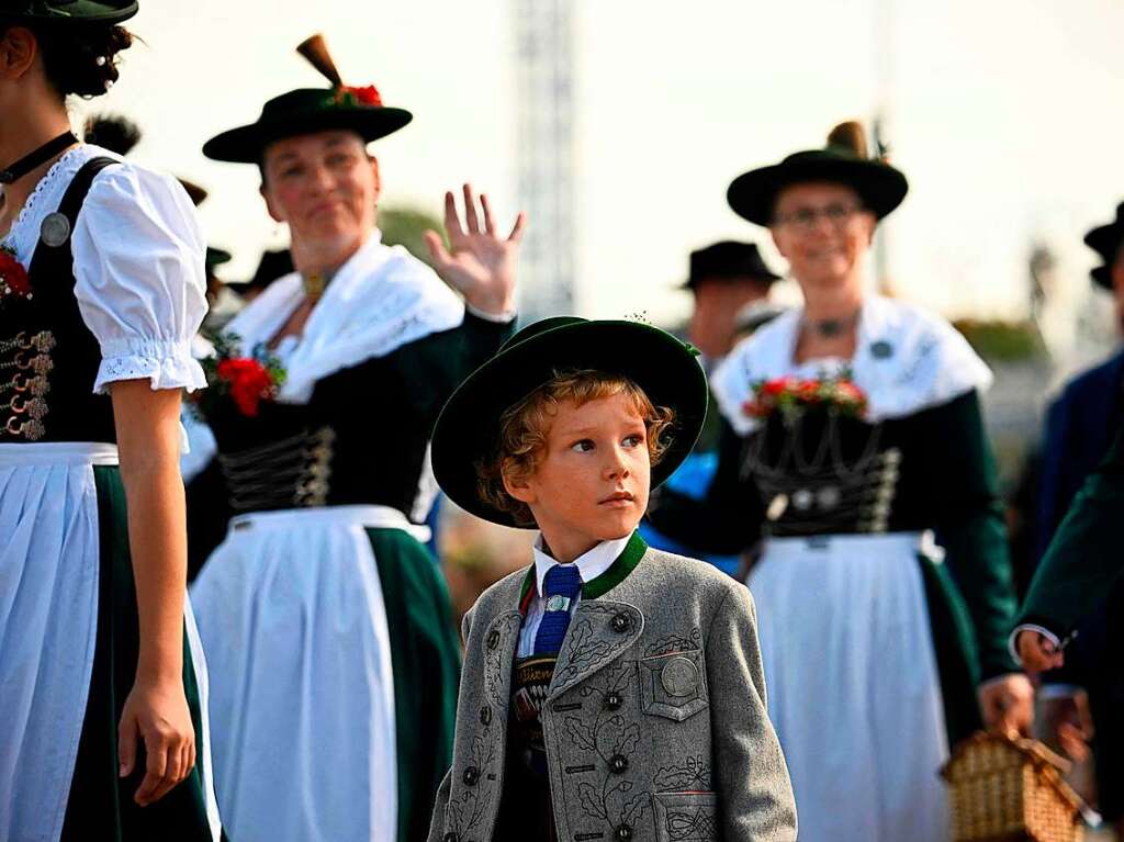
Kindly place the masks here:
<instances>
[{"instance_id":1,"label":"white apron of the leftmost woman with bare forearm","mask_svg":"<svg viewBox=\"0 0 1124 842\"><path fill-rule=\"evenodd\" d=\"M62 833L90 690L98 630L99 524L94 465L111 444L0 444L0 839ZM207 668L191 606L184 622L203 733L197 762L214 780ZM218 811L208 789L211 835Z\"/></svg>"}]
</instances>

